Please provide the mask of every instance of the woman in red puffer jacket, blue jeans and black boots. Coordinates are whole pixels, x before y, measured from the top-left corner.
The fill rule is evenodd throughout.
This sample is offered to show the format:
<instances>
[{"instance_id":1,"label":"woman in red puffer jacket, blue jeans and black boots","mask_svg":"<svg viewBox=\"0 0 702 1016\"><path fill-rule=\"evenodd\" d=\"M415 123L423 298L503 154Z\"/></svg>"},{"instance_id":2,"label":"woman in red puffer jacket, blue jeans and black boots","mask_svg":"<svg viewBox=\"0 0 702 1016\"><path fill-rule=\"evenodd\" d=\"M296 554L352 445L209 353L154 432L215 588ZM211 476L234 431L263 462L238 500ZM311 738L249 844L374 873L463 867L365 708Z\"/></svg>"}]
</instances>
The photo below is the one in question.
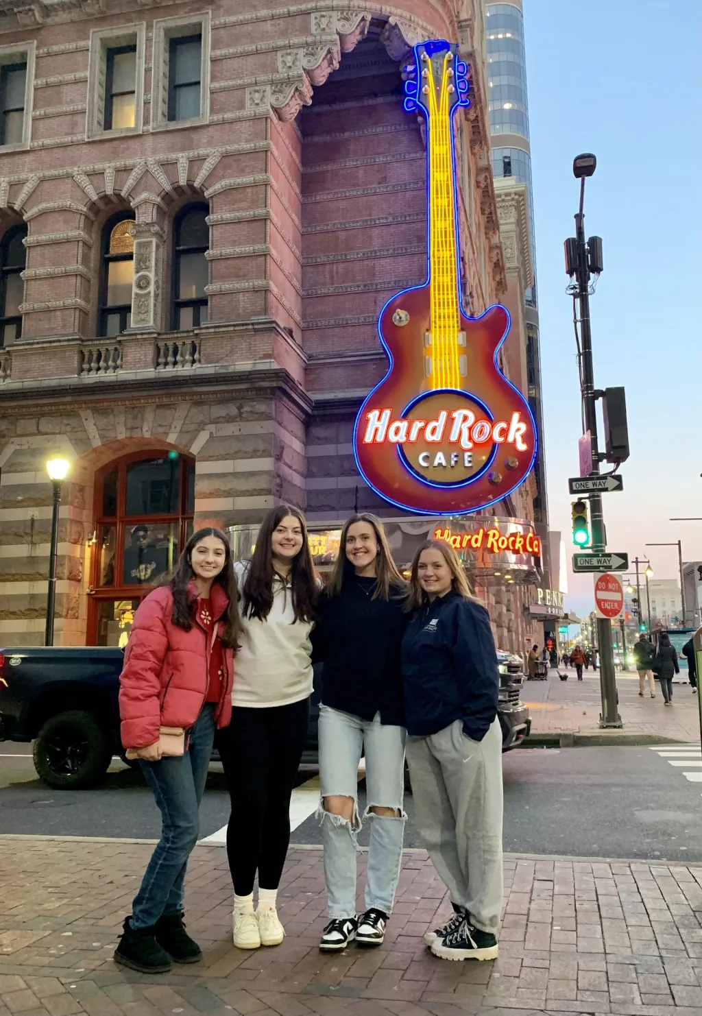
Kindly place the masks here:
<instances>
[{"instance_id":1,"label":"woman in red puffer jacket, blue jeans and black boots","mask_svg":"<svg viewBox=\"0 0 702 1016\"><path fill-rule=\"evenodd\" d=\"M141 973L201 956L183 924L183 883L214 732L232 713L239 634L229 541L219 529L199 529L173 578L134 615L120 677L122 744L139 760L163 822L115 952L118 963Z\"/></svg>"}]
</instances>

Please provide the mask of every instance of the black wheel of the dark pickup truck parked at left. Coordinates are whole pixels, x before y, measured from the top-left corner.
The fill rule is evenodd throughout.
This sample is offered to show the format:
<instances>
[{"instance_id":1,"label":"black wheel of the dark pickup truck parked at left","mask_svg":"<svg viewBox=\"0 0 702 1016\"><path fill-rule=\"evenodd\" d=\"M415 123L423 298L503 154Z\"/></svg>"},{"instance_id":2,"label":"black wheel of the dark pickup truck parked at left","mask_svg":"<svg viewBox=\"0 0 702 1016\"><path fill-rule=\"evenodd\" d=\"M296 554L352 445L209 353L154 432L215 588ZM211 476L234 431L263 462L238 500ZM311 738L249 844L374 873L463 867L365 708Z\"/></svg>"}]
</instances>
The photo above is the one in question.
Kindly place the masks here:
<instances>
[{"instance_id":1,"label":"black wheel of the dark pickup truck parked at left","mask_svg":"<svg viewBox=\"0 0 702 1016\"><path fill-rule=\"evenodd\" d=\"M46 721L34 745L41 780L61 790L98 783L110 767L112 742L91 712L71 709Z\"/></svg>"}]
</instances>

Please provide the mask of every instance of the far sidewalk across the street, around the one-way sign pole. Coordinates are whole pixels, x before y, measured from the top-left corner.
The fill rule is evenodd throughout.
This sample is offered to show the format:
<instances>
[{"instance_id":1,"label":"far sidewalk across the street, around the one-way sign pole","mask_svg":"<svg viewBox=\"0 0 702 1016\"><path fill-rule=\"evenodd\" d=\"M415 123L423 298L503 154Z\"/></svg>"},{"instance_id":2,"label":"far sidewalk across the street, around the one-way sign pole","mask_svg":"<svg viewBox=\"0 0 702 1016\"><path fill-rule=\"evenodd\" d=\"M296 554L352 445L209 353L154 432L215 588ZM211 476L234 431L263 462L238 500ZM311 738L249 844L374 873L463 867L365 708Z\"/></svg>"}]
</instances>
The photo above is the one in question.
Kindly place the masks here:
<instances>
[{"instance_id":1,"label":"far sidewalk across the street, around the one-way sign pole","mask_svg":"<svg viewBox=\"0 0 702 1016\"><path fill-rule=\"evenodd\" d=\"M585 734L598 729L601 700L599 672L585 671L583 680L576 679L575 671L564 671L568 681L561 681L555 671L549 672L548 681L525 681L522 698L529 706L532 734ZM673 686L672 708L663 705L660 685L655 684L655 698L648 694L639 698L639 679L636 672L617 672L619 711L624 722L624 733L655 735L671 741L700 741L700 719L697 697L691 694L689 684ZM700 1014L702 1016L702 1013Z\"/></svg>"}]
</instances>

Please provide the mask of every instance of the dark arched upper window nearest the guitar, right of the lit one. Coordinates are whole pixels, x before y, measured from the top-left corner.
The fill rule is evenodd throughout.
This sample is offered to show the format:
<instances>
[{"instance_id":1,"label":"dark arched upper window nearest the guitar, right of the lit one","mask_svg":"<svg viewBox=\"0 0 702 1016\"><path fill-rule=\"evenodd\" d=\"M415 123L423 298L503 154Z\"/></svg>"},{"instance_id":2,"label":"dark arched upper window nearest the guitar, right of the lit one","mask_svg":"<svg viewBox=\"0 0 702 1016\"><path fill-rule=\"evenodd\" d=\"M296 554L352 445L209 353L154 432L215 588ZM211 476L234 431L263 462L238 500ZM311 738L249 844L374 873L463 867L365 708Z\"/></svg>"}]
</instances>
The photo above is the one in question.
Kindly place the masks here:
<instances>
[{"instance_id":1,"label":"dark arched upper window nearest the guitar, right of the lit one","mask_svg":"<svg viewBox=\"0 0 702 1016\"><path fill-rule=\"evenodd\" d=\"M173 328L184 331L207 320L207 259L209 227L206 204L189 204L178 215L173 251Z\"/></svg>"}]
</instances>

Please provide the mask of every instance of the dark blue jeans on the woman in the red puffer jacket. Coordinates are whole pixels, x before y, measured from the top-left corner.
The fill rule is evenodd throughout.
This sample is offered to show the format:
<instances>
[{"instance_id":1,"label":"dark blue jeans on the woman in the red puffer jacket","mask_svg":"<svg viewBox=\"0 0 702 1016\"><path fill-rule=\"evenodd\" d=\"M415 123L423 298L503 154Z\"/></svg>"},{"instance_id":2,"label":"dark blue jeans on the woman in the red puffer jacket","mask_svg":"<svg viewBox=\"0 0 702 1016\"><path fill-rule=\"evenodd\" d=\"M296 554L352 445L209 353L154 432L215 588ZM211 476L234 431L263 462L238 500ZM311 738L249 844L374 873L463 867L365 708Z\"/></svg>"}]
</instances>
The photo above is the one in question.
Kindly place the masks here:
<instances>
[{"instance_id":1,"label":"dark blue jeans on the woman in the red puffer jacket","mask_svg":"<svg viewBox=\"0 0 702 1016\"><path fill-rule=\"evenodd\" d=\"M188 858L200 828L200 801L214 741L214 703L205 702L182 758L139 759L162 817L161 839L132 903L132 928L151 928L183 909Z\"/></svg>"}]
</instances>

